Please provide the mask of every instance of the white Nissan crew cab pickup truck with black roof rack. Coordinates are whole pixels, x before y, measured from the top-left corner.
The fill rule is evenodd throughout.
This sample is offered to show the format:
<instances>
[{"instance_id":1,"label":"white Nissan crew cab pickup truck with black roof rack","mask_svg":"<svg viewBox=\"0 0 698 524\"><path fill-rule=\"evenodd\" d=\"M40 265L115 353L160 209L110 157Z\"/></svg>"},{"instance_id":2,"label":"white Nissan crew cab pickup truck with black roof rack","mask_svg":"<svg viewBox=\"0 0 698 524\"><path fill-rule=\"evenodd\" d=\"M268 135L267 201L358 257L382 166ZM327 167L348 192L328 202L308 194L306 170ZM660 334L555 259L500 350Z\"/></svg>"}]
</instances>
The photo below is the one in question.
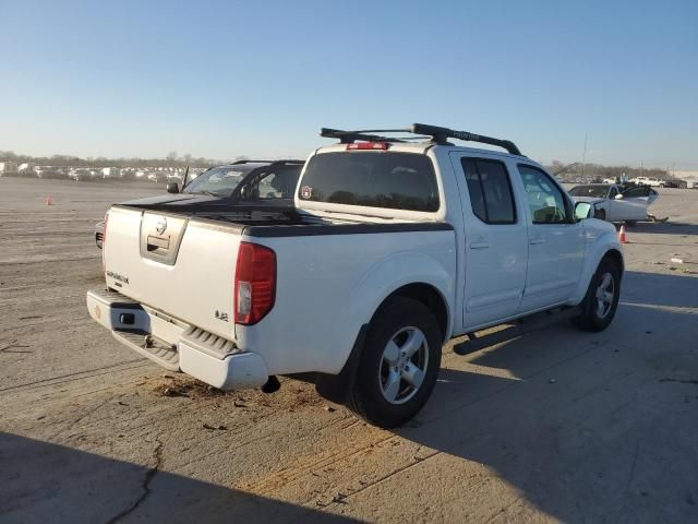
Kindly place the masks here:
<instances>
[{"instance_id":1,"label":"white Nissan crew cab pickup truck with black roof rack","mask_svg":"<svg viewBox=\"0 0 698 524\"><path fill-rule=\"evenodd\" d=\"M321 134L339 143L310 155L294 210L182 205L192 194L112 206L92 318L216 388L313 377L383 427L424 405L452 337L565 306L585 330L613 319L614 227L514 143L424 124Z\"/></svg>"}]
</instances>

